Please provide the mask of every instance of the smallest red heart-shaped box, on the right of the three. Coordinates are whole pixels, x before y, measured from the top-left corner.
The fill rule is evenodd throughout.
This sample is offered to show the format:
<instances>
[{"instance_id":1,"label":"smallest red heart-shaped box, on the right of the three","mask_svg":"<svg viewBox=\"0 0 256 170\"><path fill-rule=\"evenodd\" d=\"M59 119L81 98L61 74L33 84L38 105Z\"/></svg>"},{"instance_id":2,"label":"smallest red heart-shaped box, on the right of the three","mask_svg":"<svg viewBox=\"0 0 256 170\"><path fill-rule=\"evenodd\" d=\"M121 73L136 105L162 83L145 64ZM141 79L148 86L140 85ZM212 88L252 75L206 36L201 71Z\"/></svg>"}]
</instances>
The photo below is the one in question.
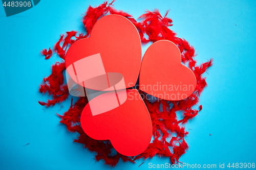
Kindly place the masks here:
<instances>
[{"instance_id":1,"label":"smallest red heart-shaped box, on the right of the three","mask_svg":"<svg viewBox=\"0 0 256 170\"><path fill-rule=\"evenodd\" d=\"M178 46L160 40L148 47L141 63L139 89L157 98L179 101L191 95L197 85L194 72L181 64Z\"/></svg>"}]
</instances>

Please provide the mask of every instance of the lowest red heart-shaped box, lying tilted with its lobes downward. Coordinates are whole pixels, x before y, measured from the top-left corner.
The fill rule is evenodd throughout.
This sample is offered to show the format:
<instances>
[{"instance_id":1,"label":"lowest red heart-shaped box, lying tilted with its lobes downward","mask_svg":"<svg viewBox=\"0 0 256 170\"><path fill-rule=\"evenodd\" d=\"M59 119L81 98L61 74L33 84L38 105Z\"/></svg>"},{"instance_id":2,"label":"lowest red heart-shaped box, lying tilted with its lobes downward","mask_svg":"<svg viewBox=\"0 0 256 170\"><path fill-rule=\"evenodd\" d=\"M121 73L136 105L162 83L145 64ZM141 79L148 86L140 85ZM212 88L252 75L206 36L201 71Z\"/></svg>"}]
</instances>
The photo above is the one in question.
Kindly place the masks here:
<instances>
[{"instance_id":1,"label":"lowest red heart-shaped box, lying tilted with its lobes downward","mask_svg":"<svg viewBox=\"0 0 256 170\"><path fill-rule=\"evenodd\" d=\"M82 110L80 122L91 138L110 139L120 154L136 156L144 152L151 141L151 118L137 89L121 91L127 93L127 100L121 106L93 116L89 102Z\"/></svg>"}]
</instances>

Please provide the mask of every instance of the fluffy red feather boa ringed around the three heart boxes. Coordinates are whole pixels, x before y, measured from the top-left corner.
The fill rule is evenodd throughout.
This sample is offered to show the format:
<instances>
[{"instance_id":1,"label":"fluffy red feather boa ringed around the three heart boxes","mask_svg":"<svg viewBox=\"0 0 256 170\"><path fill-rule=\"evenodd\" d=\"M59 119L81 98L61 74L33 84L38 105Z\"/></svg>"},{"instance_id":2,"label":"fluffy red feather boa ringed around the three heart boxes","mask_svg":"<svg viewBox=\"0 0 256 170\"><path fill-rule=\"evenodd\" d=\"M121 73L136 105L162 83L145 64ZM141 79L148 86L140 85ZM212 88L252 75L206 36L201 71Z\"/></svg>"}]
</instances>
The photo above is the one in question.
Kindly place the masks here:
<instances>
[{"instance_id":1,"label":"fluffy red feather boa ringed around the three heart boxes","mask_svg":"<svg viewBox=\"0 0 256 170\"><path fill-rule=\"evenodd\" d=\"M172 19L166 16L167 13L168 11L165 16L162 17L158 10L146 11L145 14L139 17L142 21L137 22L132 15L116 10L113 7L113 2L111 4L104 2L95 8L89 6L82 20L83 25L87 30L87 34L79 33L77 31L67 32L64 35L61 35L59 41L54 45L53 51L57 53L60 58L65 60L68 47L81 38L89 37L95 22L100 17L107 14L118 14L128 18L134 23L139 31L142 44L162 39L174 42L180 49L183 64L187 64L196 75L197 87L194 93L185 100L170 102L160 100L151 104L146 98L144 99L152 119L154 140L150 143L144 153L135 158L127 157L119 153L113 154L113 146L109 140L99 141L87 136L81 129L79 123L80 114L83 107L88 103L88 100L87 98L80 98L76 103L71 102L70 109L63 115L59 115L61 117L60 123L67 125L70 132L78 132L80 134L78 139L75 139L74 141L82 143L84 148L88 148L89 151L96 153L95 158L97 161L103 159L106 164L115 166L120 158L124 162L135 162L135 160L140 158L146 159L158 155L169 157L172 163L177 163L179 162L181 155L188 149L188 145L184 140L184 137L188 132L185 131L185 127L183 127L182 124L187 123L189 119L194 118L198 112L202 110L202 105L200 105L199 110L192 109L192 107L199 103L200 94L207 86L205 81L206 78L203 77L203 74L207 68L212 65L212 59L201 65L197 65L196 60L194 60L196 56L195 48L189 45L185 39L177 37L176 33L168 28L169 26L172 26ZM145 38L144 35L147 35L148 38ZM46 56L46 59L52 56L51 49L48 52L45 49L41 53ZM46 105L47 107L54 106L56 103L61 103L68 98L69 91L63 77L63 70L65 69L65 61L62 61L61 63L56 62L52 66L52 74L49 77L44 78L44 82L40 84L39 89L41 93L48 92L48 94L52 96L52 100L48 100L46 103L39 102L39 104ZM140 93L142 92L140 91ZM173 104L173 107L170 107L170 103ZM160 105L162 108L161 111L159 110ZM183 111L183 119L177 119L176 111ZM176 137L171 133L175 133Z\"/></svg>"}]
</instances>

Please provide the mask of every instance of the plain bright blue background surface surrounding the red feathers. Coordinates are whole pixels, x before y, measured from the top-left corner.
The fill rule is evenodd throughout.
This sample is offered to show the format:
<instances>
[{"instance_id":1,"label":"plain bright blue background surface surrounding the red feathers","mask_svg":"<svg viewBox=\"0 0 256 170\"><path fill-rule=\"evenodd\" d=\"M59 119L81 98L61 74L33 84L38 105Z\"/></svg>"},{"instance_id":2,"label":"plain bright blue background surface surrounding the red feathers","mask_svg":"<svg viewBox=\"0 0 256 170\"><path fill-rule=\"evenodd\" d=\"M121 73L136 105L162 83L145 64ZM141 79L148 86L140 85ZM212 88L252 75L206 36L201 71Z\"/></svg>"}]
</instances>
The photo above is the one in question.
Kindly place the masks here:
<instances>
[{"instance_id":1,"label":"plain bright blue background surface surrounding the red feathers","mask_svg":"<svg viewBox=\"0 0 256 170\"><path fill-rule=\"evenodd\" d=\"M53 56L39 52L53 47L60 34L83 31L81 14L102 1L41 1L32 9L6 17L0 7L0 168L1 169L110 169L94 154L74 143L59 123L71 99L45 108L38 100L42 78L49 76ZM180 161L189 164L255 163L255 45L256 1L117 1L115 8L138 18L145 9L158 8L174 20L171 28L196 47L199 63L214 58L208 87L200 98L203 110L186 128L189 150ZM145 52L148 45L143 46ZM42 109L45 109L46 112ZM209 134L212 134L209 136ZM30 143L29 145L25 145ZM138 167L142 162L145 162ZM115 169L149 169L164 164L154 157L137 164L120 161Z\"/></svg>"}]
</instances>

